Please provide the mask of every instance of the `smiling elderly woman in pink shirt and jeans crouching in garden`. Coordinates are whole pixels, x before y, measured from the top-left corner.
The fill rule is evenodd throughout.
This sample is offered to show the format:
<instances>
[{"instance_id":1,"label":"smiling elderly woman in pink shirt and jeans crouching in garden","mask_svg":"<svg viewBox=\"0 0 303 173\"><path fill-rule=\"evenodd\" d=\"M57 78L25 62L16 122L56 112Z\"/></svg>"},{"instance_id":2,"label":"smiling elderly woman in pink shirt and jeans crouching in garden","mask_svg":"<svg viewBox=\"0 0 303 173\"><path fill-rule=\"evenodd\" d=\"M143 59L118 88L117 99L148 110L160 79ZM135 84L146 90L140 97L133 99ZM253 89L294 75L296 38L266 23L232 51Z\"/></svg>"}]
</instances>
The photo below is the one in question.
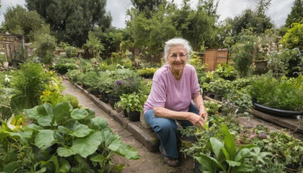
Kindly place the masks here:
<instances>
[{"instance_id":1,"label":"smiling elderly woman in pink shirt and jeans crouching in garden","mask_svg":"<svg viewBox=\"0 0 303 173\"><path fill-rule=\"evenodd\" d=\"M186 64L190 51L188 41L182 38L165 43L164 58L167 64L156 71L151 92L144 104L145 121L160 139L159 149L170 166L180 164L176 121L182 127L188 127L203 126L208 119L195 69Z\"/></svg>"}]
</instances>

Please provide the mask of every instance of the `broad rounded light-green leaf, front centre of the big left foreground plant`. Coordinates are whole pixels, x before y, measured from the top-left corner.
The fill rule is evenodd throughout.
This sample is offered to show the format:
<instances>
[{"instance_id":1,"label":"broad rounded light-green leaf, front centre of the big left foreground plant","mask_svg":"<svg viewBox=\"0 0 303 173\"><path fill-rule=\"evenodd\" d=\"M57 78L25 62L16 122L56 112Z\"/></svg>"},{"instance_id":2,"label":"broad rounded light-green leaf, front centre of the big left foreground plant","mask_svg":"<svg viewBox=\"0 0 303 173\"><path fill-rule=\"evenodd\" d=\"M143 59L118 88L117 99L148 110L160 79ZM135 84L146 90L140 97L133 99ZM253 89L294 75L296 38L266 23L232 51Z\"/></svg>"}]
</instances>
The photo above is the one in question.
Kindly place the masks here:
<instances>
[{"instance_id":1,"label":"broad rounded light-green leaf, front centre of the big left foreground plant","mask_svg":"<svg viewBox=\"0 0 303 173\"><path fill-rule=\"evenodd\" d=\"M80 154L82 157L86 158L88 155L94 153L98 146L101 144L102 135L100 131L91 133L90 135L78 138L73 141L71 149L73 152Z\"/></svg>"}]
</instances>

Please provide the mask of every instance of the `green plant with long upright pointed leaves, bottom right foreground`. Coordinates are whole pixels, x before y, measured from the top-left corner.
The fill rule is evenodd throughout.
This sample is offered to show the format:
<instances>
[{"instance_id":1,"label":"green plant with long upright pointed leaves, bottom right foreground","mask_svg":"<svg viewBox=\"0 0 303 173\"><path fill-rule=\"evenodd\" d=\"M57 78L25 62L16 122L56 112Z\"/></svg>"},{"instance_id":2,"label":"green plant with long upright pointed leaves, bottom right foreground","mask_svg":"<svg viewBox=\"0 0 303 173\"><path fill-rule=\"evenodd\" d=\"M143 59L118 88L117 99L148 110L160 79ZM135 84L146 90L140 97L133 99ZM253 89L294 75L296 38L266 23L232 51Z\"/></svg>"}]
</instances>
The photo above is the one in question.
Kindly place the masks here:
<instances>
[{"instance_id":1,"label":"green plant with long upright pointed leaves, bottom right foreground","mask_svg":"<svg viewBox=\"0 0 303 173\"><path fill-rule=\"evenodd\" d=\"M258 169L257 165L271 164L270 152L260 152L260 148L255 144L237 146L234 141L234 136L229 132L226 125L222 125L222 135L224 142L217 138L211 137L209 142L211 150L214 152L216 158L200 153L194 158L208 171L215 172L216 169L221 169L223 172L235 171L255 171ZM251 149L255 150L252 152ZM254 160L255 164L248 164L245 159ZM201 169L200 169L201 170Z\"/></svg>"}]
</instances>

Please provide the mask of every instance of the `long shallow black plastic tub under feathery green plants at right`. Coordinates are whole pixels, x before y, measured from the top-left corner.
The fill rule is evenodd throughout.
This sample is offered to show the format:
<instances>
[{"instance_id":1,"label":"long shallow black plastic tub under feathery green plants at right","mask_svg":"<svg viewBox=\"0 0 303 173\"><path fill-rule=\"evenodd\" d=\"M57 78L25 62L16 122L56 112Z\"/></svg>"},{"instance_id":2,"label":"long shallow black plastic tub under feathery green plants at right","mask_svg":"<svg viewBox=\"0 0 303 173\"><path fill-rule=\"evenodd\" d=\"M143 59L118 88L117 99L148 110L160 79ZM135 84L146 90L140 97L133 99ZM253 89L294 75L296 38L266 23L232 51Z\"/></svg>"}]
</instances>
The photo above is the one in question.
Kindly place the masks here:
<instances>
[{"instance_id":1,"label":"long shallow black plastic tub under feathery green plants at right","mask_svg":"<svg viewBox=\"0 0 303 173\"><path fill-rule=\"evenodd\" d=\"M257 110L271 114L273 116L295 118L295 116L299 116L303 114L303 111L289 111L289 110L274 109L255 102L253 102L252 104L254 104Z\"/></svg>"}]
</instances>

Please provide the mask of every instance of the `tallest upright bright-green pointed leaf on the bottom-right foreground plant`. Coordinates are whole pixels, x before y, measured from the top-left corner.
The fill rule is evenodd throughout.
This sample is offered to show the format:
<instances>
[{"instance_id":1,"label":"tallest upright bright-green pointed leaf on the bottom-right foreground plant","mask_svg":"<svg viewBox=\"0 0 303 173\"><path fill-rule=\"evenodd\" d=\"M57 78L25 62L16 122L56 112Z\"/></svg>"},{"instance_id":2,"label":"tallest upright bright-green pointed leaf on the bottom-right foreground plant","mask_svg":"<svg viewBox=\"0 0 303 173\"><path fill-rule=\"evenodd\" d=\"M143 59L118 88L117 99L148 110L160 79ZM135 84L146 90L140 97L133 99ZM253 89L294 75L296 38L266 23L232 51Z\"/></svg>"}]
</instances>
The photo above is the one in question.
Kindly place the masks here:
<instances>
[{"instance_id":1,"label":"tallest upright bright-green pointed leaf on the bottom-right foreground plant","mask_svg":"<svg viewBox=\"0 0 303 173\"><path fill-rule=\"evenodd\" d=\"M224 148L230 155L230 159L233 160L236 152L237 152L237 145L233 139L233 136L230 134L229 130L227 129L227 126L225 124L222 124L222 133L224 133Z\"/></svg>"}]
</instances>

